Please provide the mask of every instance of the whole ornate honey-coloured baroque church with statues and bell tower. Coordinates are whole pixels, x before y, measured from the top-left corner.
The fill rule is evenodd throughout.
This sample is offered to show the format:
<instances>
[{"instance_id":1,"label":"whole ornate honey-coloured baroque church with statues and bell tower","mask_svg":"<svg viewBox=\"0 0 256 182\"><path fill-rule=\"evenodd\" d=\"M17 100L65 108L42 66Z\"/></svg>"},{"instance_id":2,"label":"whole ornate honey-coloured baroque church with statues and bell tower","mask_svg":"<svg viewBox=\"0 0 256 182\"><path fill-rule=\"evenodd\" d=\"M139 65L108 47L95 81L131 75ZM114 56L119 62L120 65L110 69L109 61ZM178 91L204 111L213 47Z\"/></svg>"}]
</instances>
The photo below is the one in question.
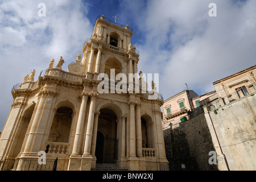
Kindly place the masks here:
<instances>
[{"instance_id":1,"label":"whole ornate honey-coloured baroque church with statues and bell tower","mask_svg":"<svg viewBox=\"0 0 256 182\"><path fill-rule=\"evenodd\" d=\"M139 52L131 46L132 35L129 26L102 15L85 41L83 56L79 54L68 71L62 69L65 61L60 57L55 68L55 60L49 63L38 81L33 70L15 85L0 138L0 159L13 160L13 170L26 170L25 164L38 160L39 151L45 151L46 161L58 159L57 170L92 170L97 164L129 170L167 169L160 111L163 98L157 93L151 99L148 90L133 92L138 80L142 91L143 73L136 77ZM100 93L101 73L135 76L131 84L121 86L128 93ZM117 85L114 80L101 88L112 90ZM152 89L156 92L154 85Z\"/></svg>"}]
</instances>

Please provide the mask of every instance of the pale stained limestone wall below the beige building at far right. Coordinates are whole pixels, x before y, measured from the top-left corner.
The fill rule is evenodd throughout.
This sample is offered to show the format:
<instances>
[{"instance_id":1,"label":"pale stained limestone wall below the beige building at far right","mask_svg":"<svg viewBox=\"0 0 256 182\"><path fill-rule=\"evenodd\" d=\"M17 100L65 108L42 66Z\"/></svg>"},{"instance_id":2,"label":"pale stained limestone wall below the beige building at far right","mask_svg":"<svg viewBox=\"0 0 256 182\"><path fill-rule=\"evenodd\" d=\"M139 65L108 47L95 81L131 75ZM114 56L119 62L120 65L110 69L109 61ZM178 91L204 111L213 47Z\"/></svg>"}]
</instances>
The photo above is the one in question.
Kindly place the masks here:
<instances>
[{"instance_id":1,"label":"pale stained limestone wall below the beige building at far right","mask_svg":"<svg viewBox=\"0 0 256 182\"><path fill-rule=\"evenodd\" d=\"M252 94L218 108L216 114L214 111L209 113L220 147L232 171L256 169L255 103L256 96Z\"/></svg>"}]
</instances>

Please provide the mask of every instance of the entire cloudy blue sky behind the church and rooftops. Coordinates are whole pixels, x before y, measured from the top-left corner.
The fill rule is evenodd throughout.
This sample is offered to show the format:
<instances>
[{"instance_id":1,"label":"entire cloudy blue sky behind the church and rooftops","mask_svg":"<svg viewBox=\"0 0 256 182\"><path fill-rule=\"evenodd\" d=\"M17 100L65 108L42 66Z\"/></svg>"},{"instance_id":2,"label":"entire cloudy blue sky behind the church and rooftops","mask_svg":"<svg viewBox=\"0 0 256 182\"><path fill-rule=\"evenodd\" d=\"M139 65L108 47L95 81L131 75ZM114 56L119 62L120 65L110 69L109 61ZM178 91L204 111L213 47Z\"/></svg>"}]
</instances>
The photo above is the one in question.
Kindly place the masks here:
<instances>
[{"instance_id":1,"label":"entire cloudy blue sky behind the church and rooftops","mask_svg":"<svg viewBox=\"0 0 256 182\"><path fill-rule=\"evenodd\" d=\"M46 16L39 16L39 3ZM216 3L217 16L208 7ZM81 53L98 15L133 28L140 51L138 71L159 73L164 99L188 88L214 90L213 81L255 65L255 0L3 0L0 2L0 131L11 109L11 88L31 69L47 69L63 56Z\"/></svg>"}]
</instances>

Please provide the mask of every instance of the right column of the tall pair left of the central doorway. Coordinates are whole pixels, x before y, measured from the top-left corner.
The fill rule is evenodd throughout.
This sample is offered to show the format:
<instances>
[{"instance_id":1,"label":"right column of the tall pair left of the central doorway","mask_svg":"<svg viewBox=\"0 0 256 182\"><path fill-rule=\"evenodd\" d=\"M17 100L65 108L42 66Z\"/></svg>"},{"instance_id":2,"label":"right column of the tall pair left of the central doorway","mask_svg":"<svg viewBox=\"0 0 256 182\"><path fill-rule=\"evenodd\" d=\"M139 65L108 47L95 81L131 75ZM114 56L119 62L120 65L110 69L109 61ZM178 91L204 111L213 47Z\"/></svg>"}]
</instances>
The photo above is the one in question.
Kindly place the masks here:
<instances>
[{"instance_id":1,"label":"right column of the tall pair left of the central doorway","mask_svg":"<svg viewBox=\"0 0 256 182\"><path fill-rule=\"evenodd\" d=\"M89 117L88 117L88 123L87 123L86 134L85 134L85 144L84 144L83 155L91 155L90 150L92 148L92 134L93 134L96 97L97 97L97 94L91 94L90 96L90 109L89 109Z\"/></svg>"}]
</instances>

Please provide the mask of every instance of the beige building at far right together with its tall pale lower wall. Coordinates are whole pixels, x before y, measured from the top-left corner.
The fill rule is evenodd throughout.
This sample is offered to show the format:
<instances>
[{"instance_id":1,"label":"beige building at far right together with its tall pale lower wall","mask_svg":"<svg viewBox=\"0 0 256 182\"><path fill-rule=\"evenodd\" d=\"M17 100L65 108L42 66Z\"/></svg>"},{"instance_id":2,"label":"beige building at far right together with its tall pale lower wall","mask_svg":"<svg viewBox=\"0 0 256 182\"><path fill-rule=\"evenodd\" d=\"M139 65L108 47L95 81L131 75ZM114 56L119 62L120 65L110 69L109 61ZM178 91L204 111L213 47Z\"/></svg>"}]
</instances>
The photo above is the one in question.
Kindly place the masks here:
<instances>
[{"instance_id":1,"label":"beige building at far right together with its tall pale lower wall","mask_svg":"<svg viewBox=\"0 0 256 182\"><path fill-rule=\"evenodd\" d=\"M255 74L256 65L213 82L202 101L220 170L256 169Z\"/></svg>"}]
</instances>

